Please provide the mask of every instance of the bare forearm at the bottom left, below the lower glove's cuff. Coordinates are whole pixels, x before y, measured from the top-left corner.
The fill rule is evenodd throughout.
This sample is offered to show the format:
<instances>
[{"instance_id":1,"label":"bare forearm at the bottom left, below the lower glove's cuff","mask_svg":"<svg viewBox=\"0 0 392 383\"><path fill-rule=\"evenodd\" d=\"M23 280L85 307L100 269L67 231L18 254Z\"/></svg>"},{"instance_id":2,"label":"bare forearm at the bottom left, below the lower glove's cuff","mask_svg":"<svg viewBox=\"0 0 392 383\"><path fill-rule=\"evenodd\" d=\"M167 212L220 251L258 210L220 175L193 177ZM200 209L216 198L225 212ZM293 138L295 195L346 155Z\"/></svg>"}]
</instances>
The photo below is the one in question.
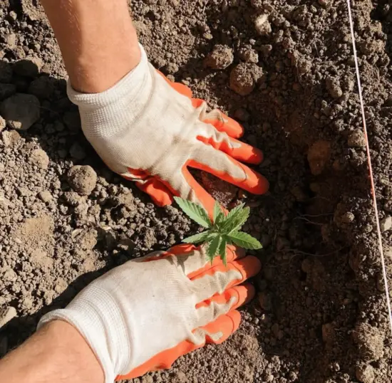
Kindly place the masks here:
<instances>
[{"instance_id":1,"label":"bare forearm at the bottom left, below the lower glove's cuff","mask_svg":"<svg viewBox=\"0 0 392 383\"><path fill-rule=\"evenodd\" d=\"M0 360L0 382L103 383L86 340L71 325L53 321Z\"/></svg>"}]
</instances>

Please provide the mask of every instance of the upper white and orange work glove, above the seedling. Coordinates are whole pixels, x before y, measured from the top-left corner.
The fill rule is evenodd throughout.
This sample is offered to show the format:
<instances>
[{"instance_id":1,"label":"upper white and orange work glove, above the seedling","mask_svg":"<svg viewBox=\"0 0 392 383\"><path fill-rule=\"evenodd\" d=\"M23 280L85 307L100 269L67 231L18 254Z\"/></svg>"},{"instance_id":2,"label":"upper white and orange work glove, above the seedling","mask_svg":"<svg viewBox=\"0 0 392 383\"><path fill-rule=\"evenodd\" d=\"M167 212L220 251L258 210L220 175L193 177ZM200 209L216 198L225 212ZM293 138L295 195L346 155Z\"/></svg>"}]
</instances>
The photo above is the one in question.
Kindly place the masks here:
<instances>
[{"instance_id":1,"label":"upper white and orange work glove, above the seedling","mask_svg":"<svg viewBox=\"0 0 392 383\"><path fill-rule=\"evenodd\" d=\"M78 105L83 132L103 161L132 179L160 206L172 196L197 201L212 214L214 200L190 174L195 167L254 194L264 177L240 162L258 164L262 152L237 140L242 127L219 110L207 112L189 88L170 83L142 58L113 88L68 96Z\"/></svg>"}]
</instances>

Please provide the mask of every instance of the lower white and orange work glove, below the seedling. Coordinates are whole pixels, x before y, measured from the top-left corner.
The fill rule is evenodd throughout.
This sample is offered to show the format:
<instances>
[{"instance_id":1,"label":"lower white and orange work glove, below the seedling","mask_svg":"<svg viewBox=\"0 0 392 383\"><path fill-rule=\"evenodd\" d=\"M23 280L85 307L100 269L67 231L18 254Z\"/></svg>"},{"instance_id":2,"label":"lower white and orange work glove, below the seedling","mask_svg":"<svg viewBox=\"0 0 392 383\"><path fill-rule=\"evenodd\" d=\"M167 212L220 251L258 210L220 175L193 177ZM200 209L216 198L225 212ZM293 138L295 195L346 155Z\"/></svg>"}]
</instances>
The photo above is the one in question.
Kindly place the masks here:
<instances>
[{"instance_id":1,"label":"lower white and orange work glove, below the seedling","mask_svg":"<svg viewBox=\"0 0 392 383\"><path fill-rule=\"evenodd\" d=\"M236 308L254 296L239 285L260 270L257 258L227 248L227 268L200 248L180 245L129 261L96 279L38 327L65 320L95 353L105 382L169 368L181 355L221 343L237 330Z\"/></svg>"}]
</instances>

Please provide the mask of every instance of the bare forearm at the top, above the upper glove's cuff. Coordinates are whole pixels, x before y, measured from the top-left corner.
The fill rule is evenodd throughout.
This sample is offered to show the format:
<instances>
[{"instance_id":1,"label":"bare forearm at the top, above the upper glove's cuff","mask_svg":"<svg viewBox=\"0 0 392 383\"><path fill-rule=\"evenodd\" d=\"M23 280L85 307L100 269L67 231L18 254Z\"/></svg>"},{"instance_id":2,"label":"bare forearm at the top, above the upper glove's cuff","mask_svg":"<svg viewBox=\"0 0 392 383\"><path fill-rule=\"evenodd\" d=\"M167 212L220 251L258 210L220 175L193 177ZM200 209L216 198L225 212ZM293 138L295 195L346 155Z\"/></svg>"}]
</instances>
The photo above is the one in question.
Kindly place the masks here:
<instances>
[{"instance_id":1,"label":"bare forearm at the top, above the upper glove's cuff","mask_svg":"<svg viewBox=\"0 0 392 383\"><path fill-rule=\"evenodd\" d=\"M98 93L140 61L126 0L41 0L73 88Z\"/></svg>"}]
</instances>

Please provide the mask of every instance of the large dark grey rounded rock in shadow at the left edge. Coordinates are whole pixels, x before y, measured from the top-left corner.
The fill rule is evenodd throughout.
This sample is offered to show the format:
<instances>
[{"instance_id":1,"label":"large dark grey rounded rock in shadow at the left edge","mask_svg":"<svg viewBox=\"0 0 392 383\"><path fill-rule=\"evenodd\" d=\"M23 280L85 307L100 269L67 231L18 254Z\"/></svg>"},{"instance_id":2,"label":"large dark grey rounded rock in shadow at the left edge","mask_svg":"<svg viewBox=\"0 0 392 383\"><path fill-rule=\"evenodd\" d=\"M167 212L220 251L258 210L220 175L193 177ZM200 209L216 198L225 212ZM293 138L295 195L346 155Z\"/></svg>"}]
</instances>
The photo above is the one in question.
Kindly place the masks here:
<instances>
[{"instance_id":1,"label":"large dark grey rounded rock in shadow at the left edge","mask_svg":"<svg viewBox=\"0 0 392 383\"><path fill-rule=\"evenodd\" d=\"M0 104L0 115L13 129L28 130L40 117L39 100L34 95L16 93Z\"/></svg>"}]
</instances>

